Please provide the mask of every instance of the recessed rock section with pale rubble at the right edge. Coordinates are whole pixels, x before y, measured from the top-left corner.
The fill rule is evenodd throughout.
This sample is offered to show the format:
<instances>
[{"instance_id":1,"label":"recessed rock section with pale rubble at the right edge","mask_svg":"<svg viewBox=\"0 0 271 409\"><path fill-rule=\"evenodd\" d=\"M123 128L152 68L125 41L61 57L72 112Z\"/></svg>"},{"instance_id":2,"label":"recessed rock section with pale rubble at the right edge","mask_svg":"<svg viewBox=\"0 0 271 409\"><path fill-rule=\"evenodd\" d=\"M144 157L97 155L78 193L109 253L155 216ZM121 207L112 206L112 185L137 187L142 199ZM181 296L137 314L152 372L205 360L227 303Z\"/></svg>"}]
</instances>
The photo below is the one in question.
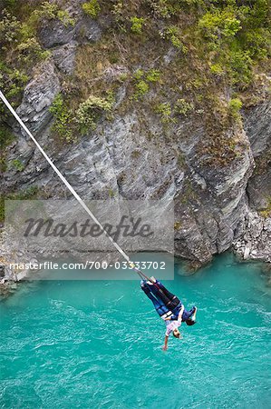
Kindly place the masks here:
<instances>
[{"instance_id":1,"label":"recessed rock section with pale rubble at the right edge","mask_svg":"<svg viewBox=\"0 0 271 409\"><path fill-rule=\"evenodd\" d=\"M270 105L262 104L247 110L244 123L256 169L247 182L247 209L244 234L234 242L237 254L245 259L271 263L271 122ZM267 210L265 210L267 209Z\"/></svg>"}]
</instances>

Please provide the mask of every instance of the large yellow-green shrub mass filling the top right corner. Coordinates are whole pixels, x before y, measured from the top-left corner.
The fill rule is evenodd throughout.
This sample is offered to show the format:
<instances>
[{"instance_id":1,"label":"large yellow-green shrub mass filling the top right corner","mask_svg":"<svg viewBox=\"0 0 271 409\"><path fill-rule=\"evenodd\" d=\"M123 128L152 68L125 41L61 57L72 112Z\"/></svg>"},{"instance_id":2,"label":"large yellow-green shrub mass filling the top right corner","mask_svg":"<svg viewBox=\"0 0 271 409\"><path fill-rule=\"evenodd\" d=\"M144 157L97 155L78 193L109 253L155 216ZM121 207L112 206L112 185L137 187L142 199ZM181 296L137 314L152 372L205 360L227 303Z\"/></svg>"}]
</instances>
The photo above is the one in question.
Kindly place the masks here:
<instances>
[{"instance_id":1,"label":"large yellow-green shrub mass filling the top right corner","mask_svg":"<svg viewBox=\"0 0 271 409\"><path fill-rule=\"evenodd\" d=\"M245 88L254 77L256 60L269 55L268 2L227 0L207 8L208 12L198 21L198 28L203 37L201 46L207 45L209 62L216 61L210 65L211 72L221 75L220 67L223 67L229 85Z\"/></svg>"}]
</instances>

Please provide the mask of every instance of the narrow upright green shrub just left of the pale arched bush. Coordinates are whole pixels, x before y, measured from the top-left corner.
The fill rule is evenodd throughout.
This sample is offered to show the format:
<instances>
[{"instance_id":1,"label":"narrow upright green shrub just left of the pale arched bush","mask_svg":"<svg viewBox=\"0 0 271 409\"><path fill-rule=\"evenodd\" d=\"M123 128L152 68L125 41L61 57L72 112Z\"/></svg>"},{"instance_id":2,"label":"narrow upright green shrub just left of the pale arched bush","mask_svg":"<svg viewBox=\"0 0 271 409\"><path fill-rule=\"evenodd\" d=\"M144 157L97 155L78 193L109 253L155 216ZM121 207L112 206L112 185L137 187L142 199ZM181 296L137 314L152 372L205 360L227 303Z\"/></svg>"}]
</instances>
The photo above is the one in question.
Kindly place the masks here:
<instances>
[{"instance_id":1,"label":"narrow upright green shrub just left of the pale arched bush","mask_svg":"<svg viewBox=\"0 0 271 409\"><path fill-rule=\"evenodd\" d=\"M73 112L64 104L61 94L55 96L49 111L54 117L53 132L64 141L73 142Z\"/></svg>"}]
</instances>

